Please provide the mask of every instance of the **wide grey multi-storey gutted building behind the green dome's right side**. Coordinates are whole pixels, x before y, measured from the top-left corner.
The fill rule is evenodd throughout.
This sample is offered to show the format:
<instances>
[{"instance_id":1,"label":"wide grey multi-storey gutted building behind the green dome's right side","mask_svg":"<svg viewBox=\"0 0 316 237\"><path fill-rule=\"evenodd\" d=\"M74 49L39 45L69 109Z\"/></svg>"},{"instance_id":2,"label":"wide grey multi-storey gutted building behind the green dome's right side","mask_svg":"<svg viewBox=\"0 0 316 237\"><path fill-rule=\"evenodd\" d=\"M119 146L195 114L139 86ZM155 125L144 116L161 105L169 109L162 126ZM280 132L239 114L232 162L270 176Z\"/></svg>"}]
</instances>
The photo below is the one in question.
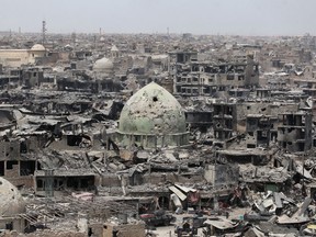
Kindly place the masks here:
<instances>
[{"instance_id":1,"label":"wide grey multi-storey gutted building behind the green dome's right side","mask_svg":"<svg viewBox=\"0 0 316 237\"><path fill-rule=\"evenodd\" d=\"M173 91L181 95L214 95L218 91L250 88L259 84L259 68L253 56L245 61L198 61L196 53L174 53L169 69L173 78ZM171 53L172 55L172 53ZM195 57L194 57L195 56Z\"/></svg>"}]
</instances>

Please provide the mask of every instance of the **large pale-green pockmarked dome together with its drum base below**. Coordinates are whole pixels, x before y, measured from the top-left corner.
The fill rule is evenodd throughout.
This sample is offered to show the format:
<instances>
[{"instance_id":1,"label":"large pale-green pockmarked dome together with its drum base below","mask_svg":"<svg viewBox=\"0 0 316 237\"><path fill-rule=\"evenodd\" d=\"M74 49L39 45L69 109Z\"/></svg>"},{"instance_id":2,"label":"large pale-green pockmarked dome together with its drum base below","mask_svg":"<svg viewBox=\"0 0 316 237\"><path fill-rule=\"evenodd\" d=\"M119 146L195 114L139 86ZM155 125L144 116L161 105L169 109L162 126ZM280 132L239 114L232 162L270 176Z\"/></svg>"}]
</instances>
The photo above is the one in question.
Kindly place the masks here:
<instances>
[{"instance_id":1,"label":"large pale-green pockmarked dome together with its drum base below","mask_svg":"<svg viewBox=\"0 0 316 237\"><path fill-rule=\"evenodd\" d=\"M171 93L155 82L126 102L117 134L123 146L155 148L189 143L184 111Z\"/></svg>"}]
</instances>

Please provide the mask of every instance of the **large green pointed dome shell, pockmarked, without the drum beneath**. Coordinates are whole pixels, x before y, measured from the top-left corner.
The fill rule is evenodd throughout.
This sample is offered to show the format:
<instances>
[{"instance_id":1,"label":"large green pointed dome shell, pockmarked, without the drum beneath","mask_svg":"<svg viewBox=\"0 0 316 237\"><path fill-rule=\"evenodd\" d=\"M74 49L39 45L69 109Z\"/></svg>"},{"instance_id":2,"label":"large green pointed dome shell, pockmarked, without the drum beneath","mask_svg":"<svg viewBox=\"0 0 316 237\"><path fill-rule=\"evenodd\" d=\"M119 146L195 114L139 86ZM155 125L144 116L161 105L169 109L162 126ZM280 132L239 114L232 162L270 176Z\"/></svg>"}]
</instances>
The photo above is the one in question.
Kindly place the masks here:
<instances>
[{"instance_id":1,"label":"large green pointed dome shell, pockmarked, without the drum beneath","mask_svg":"<svg viewBox=\"0 0 316 237\"><path fill-rule=\"evenodd\" d=\"M137 91L121 112L119 132L134 135L183 134L185 116L180 103L155 82Z\"/></svg>"}]
</instances>

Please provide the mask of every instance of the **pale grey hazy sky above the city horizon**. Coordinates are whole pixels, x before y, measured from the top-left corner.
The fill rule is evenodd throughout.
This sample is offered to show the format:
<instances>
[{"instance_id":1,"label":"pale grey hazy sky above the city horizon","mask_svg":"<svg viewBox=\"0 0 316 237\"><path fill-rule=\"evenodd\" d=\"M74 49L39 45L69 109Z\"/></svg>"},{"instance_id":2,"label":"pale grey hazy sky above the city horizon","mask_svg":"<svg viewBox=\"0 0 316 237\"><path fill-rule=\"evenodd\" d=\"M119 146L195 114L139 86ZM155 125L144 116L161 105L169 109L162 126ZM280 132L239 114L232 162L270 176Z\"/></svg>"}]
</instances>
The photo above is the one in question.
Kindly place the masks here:
<instances>
[{"instance_id":1,"label":"pale grey hazy sky above the city horizon","mask_svg":"<svg viewBox=\"0 0 316 237\"><path fill-rule=\"evenodd\" d=\"M0 0L0 31L316 35L316 0Z\"/></svg>"}]
</instances>

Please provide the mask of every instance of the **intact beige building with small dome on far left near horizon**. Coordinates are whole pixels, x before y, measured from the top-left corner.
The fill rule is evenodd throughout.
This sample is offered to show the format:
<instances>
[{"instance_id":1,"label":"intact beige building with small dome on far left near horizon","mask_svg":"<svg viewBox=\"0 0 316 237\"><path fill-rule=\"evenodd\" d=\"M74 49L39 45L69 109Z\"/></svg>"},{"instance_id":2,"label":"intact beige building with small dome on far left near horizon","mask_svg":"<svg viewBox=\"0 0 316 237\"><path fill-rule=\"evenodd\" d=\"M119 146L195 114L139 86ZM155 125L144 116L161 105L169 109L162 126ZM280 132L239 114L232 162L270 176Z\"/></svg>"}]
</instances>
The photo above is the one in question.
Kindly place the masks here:
<instances>
[{"instance_id":1,"label":"intact beige building with small dome on far left near horizon","mask_svg":"<svg viewBox=\"0 0 316 237\"><path fill-rule=\"evenodd\" d=\"M45 56L46 48L41 44L35 44L31 49L0 49L0 64L16 68L22 65L34 65Z\"/></svg>"}]
</instances>

